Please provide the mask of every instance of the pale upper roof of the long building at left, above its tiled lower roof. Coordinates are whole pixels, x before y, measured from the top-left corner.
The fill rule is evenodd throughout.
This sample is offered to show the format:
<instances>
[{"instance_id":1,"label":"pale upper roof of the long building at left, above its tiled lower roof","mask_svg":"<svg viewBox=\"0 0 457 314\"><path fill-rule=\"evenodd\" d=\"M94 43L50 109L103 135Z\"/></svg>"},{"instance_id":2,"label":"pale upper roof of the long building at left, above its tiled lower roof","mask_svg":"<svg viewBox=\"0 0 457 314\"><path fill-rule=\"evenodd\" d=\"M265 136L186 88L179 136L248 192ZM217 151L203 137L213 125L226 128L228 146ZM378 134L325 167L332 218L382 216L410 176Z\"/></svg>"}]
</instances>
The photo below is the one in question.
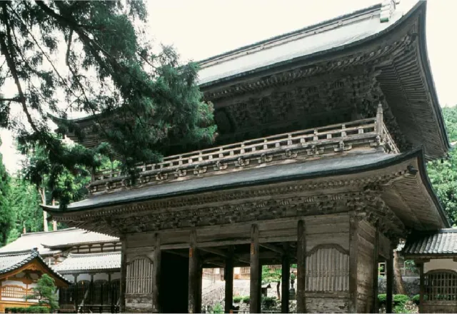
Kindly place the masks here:
<instances>
[{"instance_id":1,"label":"pale upper roof of the long building at left, above its tiled lower roof","mask_svg":"<svg viewBox=\"0 0 457 314\"><path fill-rule=\"evenodd\" d=\"M41 255L51 255L61 252L59 248L116 241L119 241L119 238L79 228L66 228L58 231L24 233L14 242L0 248L0 253L38 248Z\"/></svg>"}]
</instances>

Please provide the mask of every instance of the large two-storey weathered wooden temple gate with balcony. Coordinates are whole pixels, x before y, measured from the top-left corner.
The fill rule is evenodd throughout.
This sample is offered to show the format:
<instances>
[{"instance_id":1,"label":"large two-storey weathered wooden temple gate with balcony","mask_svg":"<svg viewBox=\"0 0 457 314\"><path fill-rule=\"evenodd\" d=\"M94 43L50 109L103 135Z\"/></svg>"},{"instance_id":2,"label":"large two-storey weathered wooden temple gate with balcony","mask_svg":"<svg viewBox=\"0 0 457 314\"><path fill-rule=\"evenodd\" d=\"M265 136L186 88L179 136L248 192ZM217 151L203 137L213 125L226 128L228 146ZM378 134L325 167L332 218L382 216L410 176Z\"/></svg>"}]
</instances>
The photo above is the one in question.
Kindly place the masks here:
<instances>
[{"instance_id":1,"label":"large two-storey weathered wooden temple gate with balcony","mask_svg":"<svg viewBox=\"0 0 457 314\"><path fill-rule=\"evenodd\" d=\"M172 147L138 165L134 184L119 170L93 173L86 200L44 206L56 221L119 237L121 310L199 313L203 269L222 267L228 313L233 268L248 267L250 312L260 313L261 265L279 264L288 313L296 263L298 313L377 313L384 261L391 313L393 248L450 227L426 173L450 147L426 1L396 4L201 61L213 146ZM74 120L86 136L67 136L98 146L103 119Z\"/></svg>"}]
</instances>

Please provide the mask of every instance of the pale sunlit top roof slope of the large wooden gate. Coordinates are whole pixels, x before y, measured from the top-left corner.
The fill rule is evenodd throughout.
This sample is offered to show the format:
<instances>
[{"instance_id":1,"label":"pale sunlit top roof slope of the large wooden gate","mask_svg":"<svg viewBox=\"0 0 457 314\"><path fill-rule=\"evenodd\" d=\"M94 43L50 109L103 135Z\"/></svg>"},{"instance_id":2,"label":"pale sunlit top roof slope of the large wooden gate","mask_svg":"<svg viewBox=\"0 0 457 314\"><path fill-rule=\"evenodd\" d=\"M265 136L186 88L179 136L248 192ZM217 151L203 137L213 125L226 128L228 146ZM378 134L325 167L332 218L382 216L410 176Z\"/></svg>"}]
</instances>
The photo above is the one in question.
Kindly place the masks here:
<instances>
[{"instance_id":1,"label":"pale sunlit top roof slope of the large wooden gate","mask_svg":"<svg viewBox=\"0 0 457 314\"><path fill-rule=\"evenodd\" d=\"M277 66L284 61L290 62L319 52L342 49L349 44L381 34L403 16L401 11L393 11L390 18L381 21L381 7L381 4L376 4L202 60L199 62L199 84L211 85L269 66Z\"/></svg>"}]
</instances>

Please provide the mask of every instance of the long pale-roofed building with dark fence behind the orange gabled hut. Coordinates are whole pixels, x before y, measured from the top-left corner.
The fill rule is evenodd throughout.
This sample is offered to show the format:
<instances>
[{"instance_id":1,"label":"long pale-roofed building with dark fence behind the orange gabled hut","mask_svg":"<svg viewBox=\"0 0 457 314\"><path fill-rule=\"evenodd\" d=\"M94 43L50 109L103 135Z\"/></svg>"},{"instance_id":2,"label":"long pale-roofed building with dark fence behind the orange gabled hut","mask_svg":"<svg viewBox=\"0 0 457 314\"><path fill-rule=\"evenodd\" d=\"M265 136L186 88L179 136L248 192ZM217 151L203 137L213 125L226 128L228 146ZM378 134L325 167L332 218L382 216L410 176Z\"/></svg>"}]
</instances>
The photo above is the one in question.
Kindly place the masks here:
<instances>
[{"instance_id":1,"label":"long pale-roofed building with dark fence behind the orange gabled hut","mask_svg":"<svg viewBox=\"0 0 457 314\"><path fill-rule=\"evenodd\" d=\"M61 311L112 310L119 302L119 238L79 228L24 233L0 248L0 255L31 248L36 248L35 254L63 280L72 282L68 288L59 289Z\"/></svg>"}]
</instances>

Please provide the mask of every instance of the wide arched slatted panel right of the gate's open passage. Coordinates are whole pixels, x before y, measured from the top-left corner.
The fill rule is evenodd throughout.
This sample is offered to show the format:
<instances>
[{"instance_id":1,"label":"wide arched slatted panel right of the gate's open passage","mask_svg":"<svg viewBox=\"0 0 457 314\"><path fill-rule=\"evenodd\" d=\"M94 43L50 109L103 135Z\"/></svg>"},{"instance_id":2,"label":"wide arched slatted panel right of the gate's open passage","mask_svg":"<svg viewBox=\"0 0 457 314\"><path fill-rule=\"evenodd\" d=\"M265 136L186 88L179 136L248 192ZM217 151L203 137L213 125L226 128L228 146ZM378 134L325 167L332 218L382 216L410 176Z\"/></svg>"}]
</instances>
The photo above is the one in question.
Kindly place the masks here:
<instances>
[{"instance_id":1,"label":"wide arched slatted panel right of the gate's open passage","mask_svg":"<svg viewBox=\"0 0 457 314\"><path fill-rule=\"evenodd\" d=\"M306 254L306 291L349 289L349 253L337 244L316 245Z\"/></svg>"}]
</instances>

